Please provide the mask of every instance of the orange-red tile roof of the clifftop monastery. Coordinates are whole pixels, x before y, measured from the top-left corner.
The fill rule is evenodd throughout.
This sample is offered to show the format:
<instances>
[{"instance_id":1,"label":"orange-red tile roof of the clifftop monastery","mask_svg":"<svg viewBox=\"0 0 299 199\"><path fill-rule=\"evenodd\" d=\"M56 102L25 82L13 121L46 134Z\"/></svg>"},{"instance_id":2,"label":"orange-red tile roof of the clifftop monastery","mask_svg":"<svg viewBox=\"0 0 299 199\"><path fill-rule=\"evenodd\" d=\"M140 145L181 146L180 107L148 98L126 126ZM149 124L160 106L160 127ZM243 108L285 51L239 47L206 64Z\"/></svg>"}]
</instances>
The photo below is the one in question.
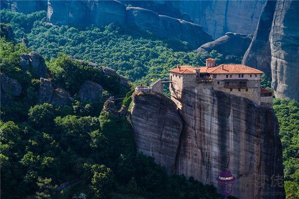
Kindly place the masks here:
<instances>
[{"instance_id":1,"label":"orange-red tile roof of the clifftop monastery","mask_svg":"<svg viewBox=\"0 0 299 199\"><path fill-rule=\"evenodd\" d=\"M199 69L200 73L210 73L210 74L262 74L263 72L254 69L242 64L221 64L215 67L197 67L193 68L188 65L181 66L180 69L172 69L170 72L172 73L180 73L180 74L195 74L193 72L194 69Z\"/></svg>"}]
</instances>

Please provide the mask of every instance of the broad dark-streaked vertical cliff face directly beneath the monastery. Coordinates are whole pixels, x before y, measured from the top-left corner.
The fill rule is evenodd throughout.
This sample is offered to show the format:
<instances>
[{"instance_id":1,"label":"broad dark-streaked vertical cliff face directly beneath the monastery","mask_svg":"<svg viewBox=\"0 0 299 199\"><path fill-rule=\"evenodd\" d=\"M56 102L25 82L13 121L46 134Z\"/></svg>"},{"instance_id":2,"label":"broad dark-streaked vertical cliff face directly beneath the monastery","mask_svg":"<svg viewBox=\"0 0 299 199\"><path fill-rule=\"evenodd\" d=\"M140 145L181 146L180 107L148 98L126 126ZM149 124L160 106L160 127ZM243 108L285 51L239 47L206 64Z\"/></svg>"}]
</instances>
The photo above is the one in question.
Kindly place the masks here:
<instances>
[{"instance_id":1,"label":"broad dark-streaked vertical cliff face directly beneath the monastery","mask_svg":"<svg viewBox=\"0 0 299 199\"><path fill-rule=\"evenodd\" d=\"M171 90L176 95L176 90ZM210 89L183 90L184 120L175 171L214 184L221 171L237 178L232 195L240 199L278 199L273 175L283 176L278 121L254 102ZM255 183L267 176L264 185Z\"/></svg>"}]
</instances>

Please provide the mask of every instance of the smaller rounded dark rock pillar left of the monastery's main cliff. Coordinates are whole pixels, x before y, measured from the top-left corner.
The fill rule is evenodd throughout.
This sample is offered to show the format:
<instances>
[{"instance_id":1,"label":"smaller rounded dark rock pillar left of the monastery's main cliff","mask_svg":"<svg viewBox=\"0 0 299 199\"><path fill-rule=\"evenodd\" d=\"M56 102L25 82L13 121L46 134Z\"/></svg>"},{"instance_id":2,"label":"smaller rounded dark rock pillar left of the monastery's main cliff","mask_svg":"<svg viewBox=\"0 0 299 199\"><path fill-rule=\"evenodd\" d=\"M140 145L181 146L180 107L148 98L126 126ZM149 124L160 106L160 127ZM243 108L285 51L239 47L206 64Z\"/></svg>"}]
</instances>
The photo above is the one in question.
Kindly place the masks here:
<instances>
[{"instance_id":1,"label":"smaller rounded dark rock pillar left of the monastery's main cliff","mask_svg":"<svg viewBox=\"0 0 299 199\"><path fill-rule=\"evenodd\" d=\"M173 174L183 127L175 103L163 95L135 93L133 104L131 121L137 149Z\"/></svg>"}]
</instances>

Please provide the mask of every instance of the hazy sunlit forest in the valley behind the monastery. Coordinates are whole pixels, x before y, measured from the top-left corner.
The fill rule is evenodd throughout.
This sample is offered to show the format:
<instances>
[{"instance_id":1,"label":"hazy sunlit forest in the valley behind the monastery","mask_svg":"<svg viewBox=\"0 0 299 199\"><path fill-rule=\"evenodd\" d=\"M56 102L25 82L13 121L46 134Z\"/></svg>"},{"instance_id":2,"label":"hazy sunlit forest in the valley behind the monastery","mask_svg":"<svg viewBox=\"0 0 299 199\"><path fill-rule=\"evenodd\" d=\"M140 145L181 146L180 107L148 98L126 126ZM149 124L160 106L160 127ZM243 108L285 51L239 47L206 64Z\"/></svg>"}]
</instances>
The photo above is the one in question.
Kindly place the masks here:
<instances>
[{"instance_id":1,"label":"hazy sunlit forest in the valley behind the monastery","mask_svg":"<svg viewBox=\"0 0 299 199\"><path fill-rule=\"evenodd\" d=\"M208 57L218 63L241 62L235 56L223 57L216 51L199 54L188 49L186 42L161 41L150 32L132 28L121 28L110 24L105 27L76 29L68 26L47 24L45 11L22 14L0 10L1 22L9 23L16 41L26 35L28 47L46 58L56 57L63 52L77 59L84 59L108 66L130 81L168 76L169 68L177 64L203 66Z\"/></svg>"}]
</instances>

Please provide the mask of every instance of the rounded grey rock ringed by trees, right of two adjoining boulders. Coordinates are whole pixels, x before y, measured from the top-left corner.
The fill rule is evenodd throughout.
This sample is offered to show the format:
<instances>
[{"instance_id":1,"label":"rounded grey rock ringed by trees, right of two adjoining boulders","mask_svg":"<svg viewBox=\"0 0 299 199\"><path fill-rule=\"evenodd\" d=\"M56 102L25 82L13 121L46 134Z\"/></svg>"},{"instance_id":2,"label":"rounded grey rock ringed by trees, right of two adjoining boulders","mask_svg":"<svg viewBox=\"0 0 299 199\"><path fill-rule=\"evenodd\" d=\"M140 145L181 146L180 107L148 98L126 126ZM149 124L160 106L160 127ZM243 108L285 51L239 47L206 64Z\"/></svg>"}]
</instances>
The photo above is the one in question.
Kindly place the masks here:
<instances>
[{"instance_id":1,"label":"rounded grey rock ringed by trees, right of two adjoining boulders","mask_svg":"<svg viewBox=\"0 0 299 199\"><path fill-rule=\"evenodd\" d=\"M102 97L103 87L95 82L86 81L79 90L81 101L99 101Z\"/></svg>"}]
</instances>

